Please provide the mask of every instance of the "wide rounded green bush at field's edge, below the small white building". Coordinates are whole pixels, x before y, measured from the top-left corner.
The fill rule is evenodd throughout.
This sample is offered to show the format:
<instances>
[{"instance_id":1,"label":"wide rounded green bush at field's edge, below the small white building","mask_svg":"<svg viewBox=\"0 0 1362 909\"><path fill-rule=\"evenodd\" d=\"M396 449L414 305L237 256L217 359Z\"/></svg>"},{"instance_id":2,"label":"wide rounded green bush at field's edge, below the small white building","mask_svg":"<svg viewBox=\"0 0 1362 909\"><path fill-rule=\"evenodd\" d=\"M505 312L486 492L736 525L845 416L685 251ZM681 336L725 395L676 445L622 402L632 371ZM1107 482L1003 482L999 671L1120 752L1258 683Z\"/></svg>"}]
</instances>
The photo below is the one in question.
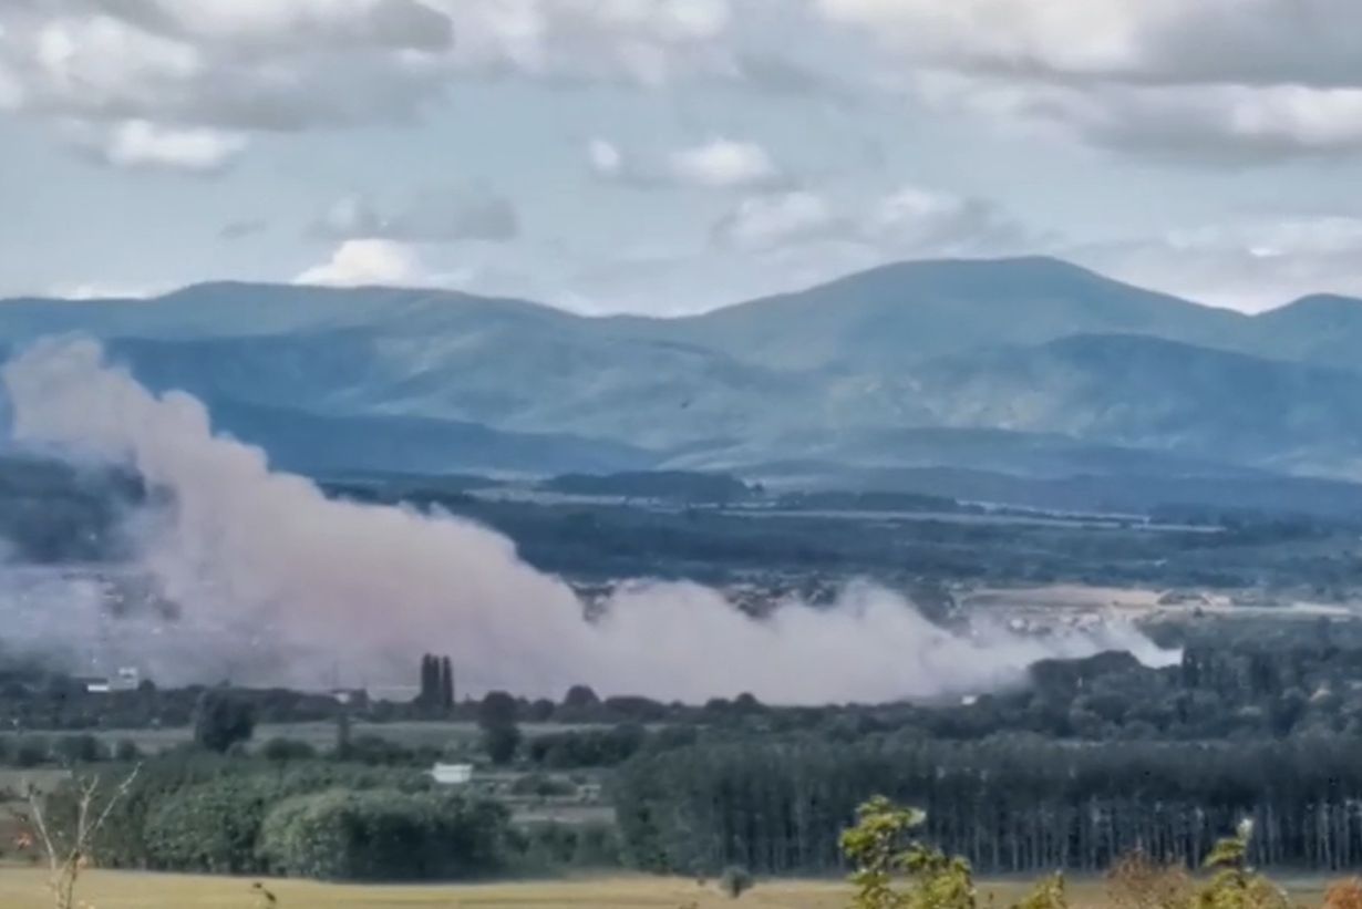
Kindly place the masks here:
<instances>
[{"instance_id":1,"label":"wide rounded green bush at field's edge, below the small white building","mask_svg":"<svg viewBox=\"0 0 1362 909\"><path fill-rule=\"evenodd\" d=\"M260 834L272 874L321 880L430 880L503 867L505 808L459 796L331 790L274 808Z\"/></svg>"}]
</instances>

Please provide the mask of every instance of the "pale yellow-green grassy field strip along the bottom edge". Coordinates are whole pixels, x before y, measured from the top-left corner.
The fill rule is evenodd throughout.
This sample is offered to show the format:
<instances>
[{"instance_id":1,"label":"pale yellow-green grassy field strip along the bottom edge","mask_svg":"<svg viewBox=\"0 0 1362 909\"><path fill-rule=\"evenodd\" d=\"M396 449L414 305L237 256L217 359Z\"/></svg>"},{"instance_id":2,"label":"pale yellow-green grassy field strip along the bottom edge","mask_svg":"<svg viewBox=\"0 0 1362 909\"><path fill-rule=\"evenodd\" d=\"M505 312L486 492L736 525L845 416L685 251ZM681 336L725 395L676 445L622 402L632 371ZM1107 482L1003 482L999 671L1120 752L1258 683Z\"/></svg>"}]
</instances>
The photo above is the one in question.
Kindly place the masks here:
<instances>
[{"instance_id":1,"label":"pale yellow-green grassy field strip along the bottom edge","mask_svg":"<svg viewBox=\"0 0 1362 909\"><path fill-rule=\"evenodd\" d=\"M0 867L0 906L5 909L46 909L44 875L31 868ZM1287 882L1291 895L1302 905L1318 905L1321 880ZM82 895L99 909L252 909L259 905L252 880L240 878L188 878L142 874L91 874L82 882ZM301 880L271 880L268 889L281 909L421 909L469 908L548 909L550 906L591 906L613 909L718 909L734 902L716 887L693 880L659 878L610 878L535 883L494 883L462 886L330 886ZM1020 899L1027 882L985 882L979 884L981 905L1008 906ZM1099 880L1079 880L1071 886L1076 909L1110 905ZM846 884L838 882L761 882L737 905L765 909L840 909L849 902Z\"/></svg>"}]
</instances>

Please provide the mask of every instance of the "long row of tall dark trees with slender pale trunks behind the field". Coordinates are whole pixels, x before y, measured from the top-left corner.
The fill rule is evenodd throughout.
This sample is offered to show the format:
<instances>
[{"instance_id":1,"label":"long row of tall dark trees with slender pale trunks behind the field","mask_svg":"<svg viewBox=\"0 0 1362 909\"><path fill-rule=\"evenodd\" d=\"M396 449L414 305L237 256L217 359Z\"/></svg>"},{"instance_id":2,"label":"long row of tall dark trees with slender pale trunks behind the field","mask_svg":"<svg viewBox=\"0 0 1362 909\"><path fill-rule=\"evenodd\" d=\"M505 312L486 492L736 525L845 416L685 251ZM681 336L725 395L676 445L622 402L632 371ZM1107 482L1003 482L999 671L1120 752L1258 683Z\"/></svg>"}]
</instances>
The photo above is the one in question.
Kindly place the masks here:
<instances>
[{"instance_id":1,"label":"long row of tall dark trees with slender pale trunks behind the field","mask_svg":"<svg viewBox=\"0 0 1362 909\"><path fill-rule=\"evenodd\" d=\"M843 868L847 816L880 792L921 805L932 842L990 874L1100 871L1130 850L1192 863L1242 818L1260 831L1254 863L1362 863L1362 741L1350 737L700 743L627 765L616 807L640 868L825 874Z\"/></svg>"}]
</instances>

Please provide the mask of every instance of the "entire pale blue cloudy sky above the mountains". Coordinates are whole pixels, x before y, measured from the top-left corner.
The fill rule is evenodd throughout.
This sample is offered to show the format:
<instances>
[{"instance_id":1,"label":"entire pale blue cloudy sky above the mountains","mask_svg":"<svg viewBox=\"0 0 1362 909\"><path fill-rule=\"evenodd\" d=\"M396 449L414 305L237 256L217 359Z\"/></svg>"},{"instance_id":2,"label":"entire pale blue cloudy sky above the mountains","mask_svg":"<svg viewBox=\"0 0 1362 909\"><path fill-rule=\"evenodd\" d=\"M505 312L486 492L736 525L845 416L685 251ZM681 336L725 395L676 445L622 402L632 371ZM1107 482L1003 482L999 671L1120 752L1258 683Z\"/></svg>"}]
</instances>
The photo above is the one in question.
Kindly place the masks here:
<instances>
[{"instance_id":1,"label":"entire pale blue cloudy sky above the mountains","mask_svg":"<svg viewBox=\"0 0 1362 909\"><path fill-rule=\"evenodd\" d=\"M0 0L0 296L1362 294L1357 0Z\"/></svg>"}]
</instances>

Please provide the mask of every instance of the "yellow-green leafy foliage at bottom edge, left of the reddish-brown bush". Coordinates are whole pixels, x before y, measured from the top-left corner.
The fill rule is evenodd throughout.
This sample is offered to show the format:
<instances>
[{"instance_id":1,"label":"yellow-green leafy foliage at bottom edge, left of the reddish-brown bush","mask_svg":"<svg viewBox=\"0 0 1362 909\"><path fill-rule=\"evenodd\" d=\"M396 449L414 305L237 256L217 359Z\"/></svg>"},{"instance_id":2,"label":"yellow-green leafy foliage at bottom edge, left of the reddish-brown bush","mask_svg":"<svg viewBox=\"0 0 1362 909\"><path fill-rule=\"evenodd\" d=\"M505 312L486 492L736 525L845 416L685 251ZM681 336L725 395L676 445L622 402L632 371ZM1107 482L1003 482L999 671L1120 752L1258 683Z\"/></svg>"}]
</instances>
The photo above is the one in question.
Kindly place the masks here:
<instances>
[{"instance_id":1,"label":"yellow-green leafy foliage at bottom edge, left of the reddish-brown bush","mask_svg":"<svg viewBox=\"0 0 1362 909\"><path fill-rule=\"evenodd\" d=\"M922 811L883 796L857 810L857 825L842 834L842 852L855 868L854 909L974 909L970 863L907 839L925 820ZM898 886L900 875L907 889Z\"/></svg>"}]
</instances>

